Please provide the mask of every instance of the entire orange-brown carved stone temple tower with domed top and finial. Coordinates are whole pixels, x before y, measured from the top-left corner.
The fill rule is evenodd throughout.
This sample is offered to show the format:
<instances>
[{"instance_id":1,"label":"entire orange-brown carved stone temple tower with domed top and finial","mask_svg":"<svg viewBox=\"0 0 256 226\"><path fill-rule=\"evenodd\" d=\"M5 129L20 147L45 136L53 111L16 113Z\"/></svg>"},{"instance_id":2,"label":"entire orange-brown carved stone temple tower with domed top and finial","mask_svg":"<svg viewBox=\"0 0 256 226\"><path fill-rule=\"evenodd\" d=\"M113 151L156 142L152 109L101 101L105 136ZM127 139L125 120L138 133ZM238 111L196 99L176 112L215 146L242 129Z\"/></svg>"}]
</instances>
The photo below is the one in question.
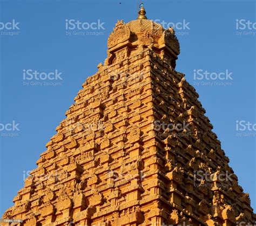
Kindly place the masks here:
<instances>
[{"instance_id":1,"label":"entire orange-brown carved stone temple tower with domed top and finial","mask_svg":"<svg viewBox=\"0 0 256 226\"><path fill-rule=\"evenodd\" d=\"M172 28L118 21L14 207L11 225L253 225Z\"/></svg>"}]
</instances>

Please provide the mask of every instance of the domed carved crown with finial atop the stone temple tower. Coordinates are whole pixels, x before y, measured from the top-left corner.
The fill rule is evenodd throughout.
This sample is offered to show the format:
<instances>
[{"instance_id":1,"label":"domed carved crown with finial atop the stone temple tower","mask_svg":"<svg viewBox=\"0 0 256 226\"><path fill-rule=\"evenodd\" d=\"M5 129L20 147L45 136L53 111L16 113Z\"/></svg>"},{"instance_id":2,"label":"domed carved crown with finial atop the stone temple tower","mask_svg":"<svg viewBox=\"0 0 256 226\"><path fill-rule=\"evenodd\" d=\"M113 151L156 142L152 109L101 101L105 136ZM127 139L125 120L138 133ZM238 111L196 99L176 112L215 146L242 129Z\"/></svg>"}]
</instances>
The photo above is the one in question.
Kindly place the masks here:
<instances>
[{"instance_id":1,"label":"domed carved crown with finial atop the stone temple tower","mask_svg":"<svg viewBox=\"0 0 256 226\"><path fill-rule=\"evenodd\" d=\"M180 47L173 28L164 29L160 24L147 19L143 5L141 5L138 13L138 18L131 20L129 23L118 20L107 40L108 57L106 65L112 64L117 55L119 55L119 58L123 55L127 57L136 53L138 49L141 51L146 48L156 53L165 51L167 54L168 52L165 56L174 61L178 58ZM125 53L124 48L128 48L128 52Z\"/></svg>"}]
</instances>

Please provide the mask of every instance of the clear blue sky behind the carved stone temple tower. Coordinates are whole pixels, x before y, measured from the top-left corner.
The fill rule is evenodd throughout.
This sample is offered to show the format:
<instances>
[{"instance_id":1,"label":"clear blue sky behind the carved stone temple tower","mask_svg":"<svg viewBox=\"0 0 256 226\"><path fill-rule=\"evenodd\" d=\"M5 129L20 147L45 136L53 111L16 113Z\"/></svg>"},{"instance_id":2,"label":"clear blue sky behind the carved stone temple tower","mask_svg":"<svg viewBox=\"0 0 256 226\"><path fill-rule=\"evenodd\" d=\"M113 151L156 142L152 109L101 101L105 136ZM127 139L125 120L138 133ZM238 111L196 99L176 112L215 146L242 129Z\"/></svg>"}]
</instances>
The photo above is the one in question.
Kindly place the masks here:
<instances>
[{"instance_id":1,"label":"clear blue sky behind the carved stone temple tower","mask_svg":"<svg viewBox=\"0 0 256 226\"><path fill-rule=\"evenodd\" d=\"M255 209L255 136L239 137L236 131L237 120L256 123L256 35L237 35L238 31L256 30L236 29L237 19L256 21L255 1L145 0L144 5L149 19L189 23L190 29L185 26L185 30L178 30L186 35L178 35L181 53L176 67L186 74L188 82L198 82L193 76L193 71L198 69L232 72L229 86L200 84L195 88L214 126L213 131L230 158L230 166L238 175L239 184L250 193ZM104 62L107 37L117 19L125 22L136 19L136 8L135 0L1 1L0 22L15 20L19 23L19 30L14 31L18 31L18 35L0 35L0 122L19 124L19 131L11 131L18 132L16 137L0 137L1 215L12 206L12 198L23 187L23 171L36 168L39 154L45 151L45 143L56 133L55 128L65 118L65 111L82 83L97 71L100 62ZM67 36L66 19L87 23L99 19L104 22L104 30L96 31L103 34ZM58 70L62 72L62 84L24 86L24 69L46 73ZM256 133L248 129L247 132Z\"/></svg>"}]
</instances>

